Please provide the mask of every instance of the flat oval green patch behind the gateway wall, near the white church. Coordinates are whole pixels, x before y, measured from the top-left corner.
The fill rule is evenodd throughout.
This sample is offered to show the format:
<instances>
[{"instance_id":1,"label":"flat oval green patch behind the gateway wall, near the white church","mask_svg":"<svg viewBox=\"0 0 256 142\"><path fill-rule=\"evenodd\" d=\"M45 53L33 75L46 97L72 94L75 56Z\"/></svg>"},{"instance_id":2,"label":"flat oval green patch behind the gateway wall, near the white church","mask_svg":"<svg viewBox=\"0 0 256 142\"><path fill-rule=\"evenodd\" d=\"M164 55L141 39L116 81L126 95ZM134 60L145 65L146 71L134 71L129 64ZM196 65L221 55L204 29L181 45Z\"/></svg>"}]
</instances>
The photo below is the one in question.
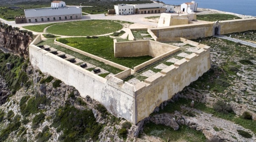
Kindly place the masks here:
<instances>
[{"instance_id":1,"label":"flat oval green patch behind the gateway wall, near the white church","mask_svg":"<svg viewBox=\"0 0 256 142\"><path fill-rule=\"evenodd\" d=\"M241 19L238 16L230 15L230 14L203 14L197 15L198 20L203 21L223 21L223 20L232 20L232 19Z\"/></svg>"}]
</instances>

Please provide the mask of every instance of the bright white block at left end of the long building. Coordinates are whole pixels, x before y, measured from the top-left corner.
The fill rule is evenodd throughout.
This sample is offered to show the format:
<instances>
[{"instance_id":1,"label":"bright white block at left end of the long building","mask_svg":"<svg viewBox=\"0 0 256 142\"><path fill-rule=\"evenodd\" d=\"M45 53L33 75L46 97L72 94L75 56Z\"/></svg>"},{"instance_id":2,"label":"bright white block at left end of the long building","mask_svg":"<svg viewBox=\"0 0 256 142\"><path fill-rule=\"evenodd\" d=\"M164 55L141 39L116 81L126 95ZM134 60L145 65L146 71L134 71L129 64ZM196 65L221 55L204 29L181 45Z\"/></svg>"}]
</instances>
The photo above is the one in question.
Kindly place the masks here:
<instances>
[{"instance_id":1,"label":"bright white block at left end of the long building","mask_svg":"<svg viewBox=\"0 0 256 142\"><path fill-rule=\"evenodd\" d=\"M134 14L134 6L133 5L114 5L115 12L117 15L128 15Z\"/></svg>"}]
</instances>

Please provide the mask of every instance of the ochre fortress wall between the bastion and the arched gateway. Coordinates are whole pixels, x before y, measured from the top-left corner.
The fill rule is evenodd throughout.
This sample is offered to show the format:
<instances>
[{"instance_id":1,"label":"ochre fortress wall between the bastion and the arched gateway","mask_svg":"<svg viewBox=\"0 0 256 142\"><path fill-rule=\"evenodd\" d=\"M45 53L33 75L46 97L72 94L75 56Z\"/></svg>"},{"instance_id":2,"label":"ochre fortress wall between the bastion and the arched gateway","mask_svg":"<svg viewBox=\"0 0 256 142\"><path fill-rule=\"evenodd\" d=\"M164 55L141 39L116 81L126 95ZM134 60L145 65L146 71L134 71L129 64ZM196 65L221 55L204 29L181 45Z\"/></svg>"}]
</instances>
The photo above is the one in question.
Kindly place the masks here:
<instances>
[{"instance_id":1,"label":"ochre fortress wall between the bastion and the arched gateway","mask_svg":"<svg viewBox=\"0 0 256 142\"><path fill-rule=\"evenodd\" d=\"M186 38L197 39L212 36L213 22L209 24L186 24L170 27L151 28L158 38Z\"/></svg>"}]
</instances>

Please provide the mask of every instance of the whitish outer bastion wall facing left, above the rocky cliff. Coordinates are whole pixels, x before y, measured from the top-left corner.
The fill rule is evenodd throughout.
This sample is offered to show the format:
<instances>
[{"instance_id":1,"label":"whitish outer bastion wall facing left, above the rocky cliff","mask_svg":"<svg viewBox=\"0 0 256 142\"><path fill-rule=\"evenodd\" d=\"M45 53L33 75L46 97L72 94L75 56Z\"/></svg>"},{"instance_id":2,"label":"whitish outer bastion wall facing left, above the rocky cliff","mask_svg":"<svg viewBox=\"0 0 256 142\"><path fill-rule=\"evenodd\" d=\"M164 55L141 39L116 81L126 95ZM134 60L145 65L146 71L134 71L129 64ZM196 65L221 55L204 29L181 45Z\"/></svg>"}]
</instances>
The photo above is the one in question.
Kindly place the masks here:
<instances>
[{"instance_id":1,"label":"whitish outer bastion wall facing left, above the rocky cliff","mask_svg":"<svg viewBox=\"0 0 256 142\"><path fill-rule=\"evenodd\" d=\"M29 46L29 58L35 69L74 86L82 97L99 101L111 114L136 123L134 87L130 84L114 76L102 78L34 45Z\"/></svg>"}]
</instances>

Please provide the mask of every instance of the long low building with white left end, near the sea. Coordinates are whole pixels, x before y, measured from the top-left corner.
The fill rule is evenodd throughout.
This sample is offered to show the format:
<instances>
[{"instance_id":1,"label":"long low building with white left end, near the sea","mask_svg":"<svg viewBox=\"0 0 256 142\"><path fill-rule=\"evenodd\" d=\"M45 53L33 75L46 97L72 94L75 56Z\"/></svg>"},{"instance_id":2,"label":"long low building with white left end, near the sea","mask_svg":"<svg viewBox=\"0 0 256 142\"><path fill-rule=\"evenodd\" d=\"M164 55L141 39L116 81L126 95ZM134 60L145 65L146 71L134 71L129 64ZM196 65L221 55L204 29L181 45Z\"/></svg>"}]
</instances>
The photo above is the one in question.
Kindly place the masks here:
<instances>
[{"instance_id":1,"label":"long low building with white left end, near the sea","mask_svg":"<svg viewBox=\"0 0 256 142\"><path fill-rule=\"evenodd\" d=\"M174 6L164 5L162 3L145 3L136 5L121 4L114 5L114 9L117 15L174 12Z\"/></svg>"}]
</instances>

